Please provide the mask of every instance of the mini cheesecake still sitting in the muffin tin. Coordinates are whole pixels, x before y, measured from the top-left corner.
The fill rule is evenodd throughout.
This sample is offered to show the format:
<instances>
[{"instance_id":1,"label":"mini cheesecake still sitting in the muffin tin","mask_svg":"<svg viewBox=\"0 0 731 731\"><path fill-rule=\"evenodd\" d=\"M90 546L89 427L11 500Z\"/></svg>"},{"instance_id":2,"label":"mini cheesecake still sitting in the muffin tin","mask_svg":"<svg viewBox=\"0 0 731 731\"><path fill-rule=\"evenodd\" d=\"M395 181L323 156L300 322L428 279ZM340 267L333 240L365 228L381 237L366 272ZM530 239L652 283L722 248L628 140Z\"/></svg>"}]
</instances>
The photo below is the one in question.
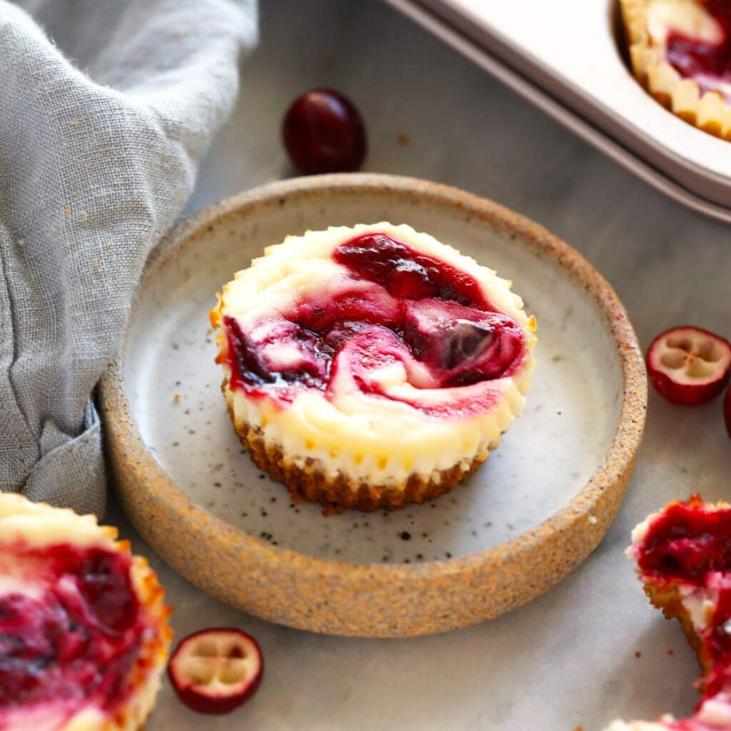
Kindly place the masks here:
<instances>
[{"instance_id":1,"label":"mini cheesecake still sitting in the muffin tin","mask_svg":"<svg viewBox=\"0 0 731 731\"><path fill-rule=\"evenodd\" d=\"M621 0L635 77L662 105L731 140L731 3Z\"/></svg>"}]
</instances>

